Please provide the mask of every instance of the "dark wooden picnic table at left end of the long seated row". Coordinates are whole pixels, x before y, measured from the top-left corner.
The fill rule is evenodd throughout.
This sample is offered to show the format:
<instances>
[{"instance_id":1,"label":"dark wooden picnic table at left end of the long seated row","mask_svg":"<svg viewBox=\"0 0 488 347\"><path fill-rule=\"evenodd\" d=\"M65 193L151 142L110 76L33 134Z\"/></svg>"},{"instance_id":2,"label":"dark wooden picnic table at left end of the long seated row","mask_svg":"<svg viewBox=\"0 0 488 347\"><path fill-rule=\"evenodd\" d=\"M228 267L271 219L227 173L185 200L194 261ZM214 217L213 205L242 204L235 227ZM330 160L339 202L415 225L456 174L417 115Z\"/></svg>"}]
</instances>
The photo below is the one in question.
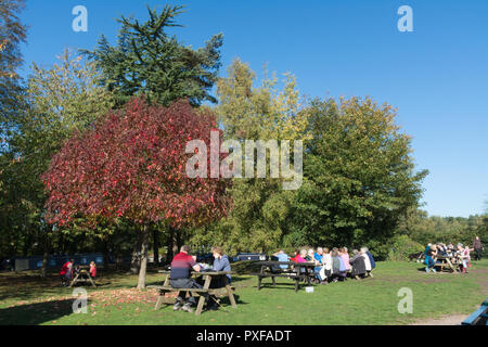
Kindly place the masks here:
<instances>
[{"instance_id":1,"label":"dark wooden picnic table at left end of the long seated row","mask_svg":"<svg viewBox=\"0 0 488 347\"><path fill-rule=\"evenodd\" d=\"M262 279L271 278L273 286L277 286L277 278L287 278L295 281L295 293L298 292L300 282L311 285L314 278L314 262L294 262L294 261L259 261L261 269L259 273L255 273L258 278L258 291L261 290ZM287 266L282 269L280 266Z\"/></svg>"}]
</instances>

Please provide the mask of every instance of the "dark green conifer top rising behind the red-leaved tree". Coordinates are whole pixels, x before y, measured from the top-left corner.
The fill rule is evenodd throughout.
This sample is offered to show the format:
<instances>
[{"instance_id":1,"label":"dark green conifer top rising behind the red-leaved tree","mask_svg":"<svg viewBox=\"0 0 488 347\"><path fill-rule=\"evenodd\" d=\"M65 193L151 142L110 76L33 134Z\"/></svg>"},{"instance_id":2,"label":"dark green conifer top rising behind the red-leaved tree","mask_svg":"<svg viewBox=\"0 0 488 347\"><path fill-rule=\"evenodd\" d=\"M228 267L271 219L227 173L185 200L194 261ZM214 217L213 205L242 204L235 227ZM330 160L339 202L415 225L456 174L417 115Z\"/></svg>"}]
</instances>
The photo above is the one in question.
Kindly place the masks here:
<instances>
[{"instance_id":1,"label":"dark green conifer top rising behind the red-leaved tree","mask_svg":"<svg viewBox=\"0 0 488 347\"><path fill-rule=\"evenodd\" d=\"M222 35L213 36L197 50L182 44L166 33L181 26L175 18L182 9L166 5L158 13L147 8L150 18L142 24L123 16L116 46L102 36L94 51L85 51L103 72L102 83L116 95L118 105L141 94L165 106L178 99L189 99L194 106L216 102L210 90L220 67Z\"/></svg>"}]
</instances>

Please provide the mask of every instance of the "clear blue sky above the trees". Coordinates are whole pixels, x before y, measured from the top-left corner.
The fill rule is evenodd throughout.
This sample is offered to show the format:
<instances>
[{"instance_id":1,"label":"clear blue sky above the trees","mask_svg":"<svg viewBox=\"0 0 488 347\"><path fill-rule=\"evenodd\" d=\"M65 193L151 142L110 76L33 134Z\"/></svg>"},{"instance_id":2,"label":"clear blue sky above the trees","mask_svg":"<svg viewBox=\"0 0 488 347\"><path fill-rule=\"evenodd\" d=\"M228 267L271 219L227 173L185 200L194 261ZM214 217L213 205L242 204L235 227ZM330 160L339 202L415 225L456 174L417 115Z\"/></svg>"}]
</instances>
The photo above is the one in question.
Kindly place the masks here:
<instances>
[{"instance_id":1,"label":"clear blue sky above the trees","mask_svg":"<svg viewBox=\"0 0 488 347\"><path fill-rule=\"evenodd\" d=\"M26 65L49 66L65 47L114 40L119 15L146 18L137 0L27 0ZM488 200L488 1L188 0L180 40L201 47L223 33L223 66L240 56L253 69L291 72L309 97L371 95L399 108L415 163L428 169L429 215L480 214ZM88 33L72 30L72 9L88 9ZM400 5L413 33L400 33ZM26 67L24 75L28 73ZM222 74L224 68L222 68Z\"/></svg>"}]
</instances>

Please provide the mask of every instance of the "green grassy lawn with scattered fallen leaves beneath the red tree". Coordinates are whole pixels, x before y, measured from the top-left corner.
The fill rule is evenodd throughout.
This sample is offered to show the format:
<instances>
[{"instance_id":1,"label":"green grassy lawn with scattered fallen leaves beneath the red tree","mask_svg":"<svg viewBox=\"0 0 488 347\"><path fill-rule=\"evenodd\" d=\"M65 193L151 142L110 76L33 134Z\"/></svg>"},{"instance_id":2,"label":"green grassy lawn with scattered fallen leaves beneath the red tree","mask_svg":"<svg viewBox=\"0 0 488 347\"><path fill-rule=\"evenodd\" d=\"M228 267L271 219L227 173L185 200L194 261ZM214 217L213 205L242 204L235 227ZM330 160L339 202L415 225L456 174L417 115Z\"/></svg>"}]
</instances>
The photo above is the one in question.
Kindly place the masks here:
<instances>
[{"instance_id":1,"label":"green grassy lawn with scattered fallen leaves beneath the red tree","mask_svg":"<svg viewBox=\"0 0 488 347\"><path fill-rule=\"evenodd\" d=\"M56 275L40 281L37 273L0 273L0 324L406 324L425 318L470 313L488 297L488 260L473 261L467 274L425 273L415 262L377 262L374 278L316 285L314 293L294 293L292 281L257 291L257 279L235 275L237 309L228 305L201 317L154 310L156 292L138 292L136 275L100 271L100 287L88 291L88 313L73 313L70 288ZM151 272L147 284L159 284ZM271 282L270 279L265 282ZM287 283L287 284L286 284ZM401 287L413 292L413 313L401 314Z\"/></svg>"}]
</instances>

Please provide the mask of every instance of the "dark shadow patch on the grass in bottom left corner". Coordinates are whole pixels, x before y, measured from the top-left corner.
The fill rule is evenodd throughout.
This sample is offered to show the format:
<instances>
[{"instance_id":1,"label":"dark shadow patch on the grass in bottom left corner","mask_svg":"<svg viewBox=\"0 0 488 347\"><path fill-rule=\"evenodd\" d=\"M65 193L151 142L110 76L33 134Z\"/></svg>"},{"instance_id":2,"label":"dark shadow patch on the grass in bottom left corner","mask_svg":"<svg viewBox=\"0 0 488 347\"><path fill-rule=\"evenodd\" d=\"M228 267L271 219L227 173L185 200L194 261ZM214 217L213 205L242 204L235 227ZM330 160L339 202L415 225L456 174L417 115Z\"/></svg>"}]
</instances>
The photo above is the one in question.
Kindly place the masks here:
<instances>
[{"instance_id":1,"label":"dark shadow patch on the grass in bottom left corner","mask_svg":"<svg viewBox=\"0 0 488 347\"><path fill-rule=\"evenodd\" d=\"M38 325L73 314L74 299L52 300L0 309L0 325Z\"/></svg>"}]
</instances>

